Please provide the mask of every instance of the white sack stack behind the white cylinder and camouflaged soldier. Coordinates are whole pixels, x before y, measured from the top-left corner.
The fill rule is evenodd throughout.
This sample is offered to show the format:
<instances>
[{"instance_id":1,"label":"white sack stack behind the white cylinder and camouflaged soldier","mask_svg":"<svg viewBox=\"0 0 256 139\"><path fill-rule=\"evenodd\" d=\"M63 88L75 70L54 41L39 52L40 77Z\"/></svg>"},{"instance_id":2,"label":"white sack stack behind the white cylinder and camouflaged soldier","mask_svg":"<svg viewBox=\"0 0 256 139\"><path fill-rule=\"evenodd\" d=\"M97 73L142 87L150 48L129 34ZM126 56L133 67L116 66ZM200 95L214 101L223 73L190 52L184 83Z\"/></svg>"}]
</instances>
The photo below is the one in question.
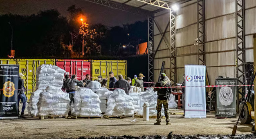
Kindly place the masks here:
<instances>
[{"instance_id":1,"label":"white sack stack behind the white cylinder and camouflaged soldier","mask_svg":"<svg viewBox=\"0 0 256 139\"><path fill-rule=\"evenodd\" d=\"M143 104L145 102L149 104L149 116L157 116L157 92L154 92L153 88L147 88L145 92L141 92L138 115L143 115ZM162 116L164 116L164 108L162 108Z\"/></svg>"}]
</instances>

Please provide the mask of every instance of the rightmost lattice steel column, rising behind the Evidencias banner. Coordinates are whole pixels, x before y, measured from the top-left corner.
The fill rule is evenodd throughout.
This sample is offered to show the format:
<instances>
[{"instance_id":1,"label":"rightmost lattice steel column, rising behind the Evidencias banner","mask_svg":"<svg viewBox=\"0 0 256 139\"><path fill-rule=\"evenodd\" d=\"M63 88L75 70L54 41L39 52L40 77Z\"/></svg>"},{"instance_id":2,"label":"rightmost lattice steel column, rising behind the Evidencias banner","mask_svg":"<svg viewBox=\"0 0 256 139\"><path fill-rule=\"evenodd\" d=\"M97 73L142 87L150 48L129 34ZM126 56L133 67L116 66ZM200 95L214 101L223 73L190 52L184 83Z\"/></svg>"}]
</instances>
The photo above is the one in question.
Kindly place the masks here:
<instances>
[{"instance_id":1,"label":"rightmost lattice steel column, rising behind the Evidencias banner","mask_svg":"<svg viewBox=\"0 0 256 139\"><path fill-rule=\"evenodd\" d=\"M236 77L238 84L245 80L245 0L236 0ZM242 93L242 86L238 87L239 94ZM239 96L237 95L237 101Z\"/></svg>"}]
</instances>

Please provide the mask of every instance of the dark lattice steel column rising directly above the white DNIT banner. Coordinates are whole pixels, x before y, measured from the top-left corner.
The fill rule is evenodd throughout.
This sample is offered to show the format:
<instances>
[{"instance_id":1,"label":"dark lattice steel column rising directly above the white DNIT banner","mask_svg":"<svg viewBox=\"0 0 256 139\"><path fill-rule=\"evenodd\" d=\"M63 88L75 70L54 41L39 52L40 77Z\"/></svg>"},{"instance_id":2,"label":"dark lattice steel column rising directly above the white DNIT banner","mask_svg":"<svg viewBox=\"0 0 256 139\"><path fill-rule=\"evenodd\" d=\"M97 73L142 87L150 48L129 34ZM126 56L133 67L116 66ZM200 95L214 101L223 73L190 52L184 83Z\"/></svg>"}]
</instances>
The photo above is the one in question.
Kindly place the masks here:
<instances>
[{"instance_id":1,"label":"dark lattice steel column rising directly above the white DNIT banner","mask_svg":"<svg viewBox=\"0 0 256 139\"><path fill-rule=\"evenodd\" d=\"M205 4L204 0L197 1L198 11L198 65L205 65Z\"/></svg>"}]
</instances>

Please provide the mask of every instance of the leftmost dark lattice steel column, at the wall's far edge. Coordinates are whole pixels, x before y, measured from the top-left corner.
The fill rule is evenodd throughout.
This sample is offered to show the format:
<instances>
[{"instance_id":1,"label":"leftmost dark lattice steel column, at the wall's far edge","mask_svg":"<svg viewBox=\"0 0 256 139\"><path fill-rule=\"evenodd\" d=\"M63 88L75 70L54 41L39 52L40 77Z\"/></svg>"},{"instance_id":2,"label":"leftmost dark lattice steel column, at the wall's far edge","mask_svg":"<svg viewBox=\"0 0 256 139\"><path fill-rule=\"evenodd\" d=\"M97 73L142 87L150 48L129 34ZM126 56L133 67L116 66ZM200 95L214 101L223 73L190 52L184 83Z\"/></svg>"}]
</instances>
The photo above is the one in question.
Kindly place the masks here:
<instances>
[{"instance_id":1,"label":"leftmost dark lattice steel column, at the wall's far edge","mask_svg":"<svg viewBox=\"0 0 256 139\"><path fill-rule=\"evenodd\" d=\"M154 18L148 18L148 81L154 82Z\"/></svg>"}]
</instances>

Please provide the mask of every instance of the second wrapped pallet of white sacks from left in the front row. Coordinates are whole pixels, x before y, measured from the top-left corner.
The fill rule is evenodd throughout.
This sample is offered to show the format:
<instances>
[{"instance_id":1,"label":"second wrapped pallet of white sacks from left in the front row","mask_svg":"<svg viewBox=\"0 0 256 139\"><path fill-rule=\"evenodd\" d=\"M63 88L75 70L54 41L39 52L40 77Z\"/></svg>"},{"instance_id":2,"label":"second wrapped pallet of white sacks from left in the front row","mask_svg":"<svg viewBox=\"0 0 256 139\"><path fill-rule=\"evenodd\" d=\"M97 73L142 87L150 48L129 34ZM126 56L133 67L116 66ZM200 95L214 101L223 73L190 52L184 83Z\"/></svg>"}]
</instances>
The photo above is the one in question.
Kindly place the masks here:
<instances>
[{"instance_id":1,"label":"second wrapped pallet of white sacks from left in the front row","mask_svg":"<svg viewBox=\"0 0 256 139\"><path fill-rule=\"evenodd\" d=\"M74 95L74 116L101 117L99 95L89 88L78 88Z\"/></svg>"}]
</instances>

